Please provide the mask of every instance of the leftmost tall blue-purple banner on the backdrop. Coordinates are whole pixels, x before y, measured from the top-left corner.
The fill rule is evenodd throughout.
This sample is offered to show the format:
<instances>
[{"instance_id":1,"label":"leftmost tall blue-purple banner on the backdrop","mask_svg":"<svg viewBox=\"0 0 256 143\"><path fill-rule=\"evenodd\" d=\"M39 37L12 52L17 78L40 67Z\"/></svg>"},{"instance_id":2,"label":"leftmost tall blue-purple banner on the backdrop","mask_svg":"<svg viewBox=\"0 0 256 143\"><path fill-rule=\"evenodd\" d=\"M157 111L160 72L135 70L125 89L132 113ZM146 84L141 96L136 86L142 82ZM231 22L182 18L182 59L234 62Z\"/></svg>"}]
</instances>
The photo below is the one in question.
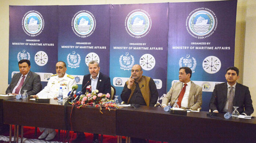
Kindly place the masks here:
<instances>
[{"instance_id":1,"label":"leftmost tall blue-purple banner on the backdrop","mask_svg":"<svg viewBox=\"0 0 256 143\"><path fill-rule=\"evenodd\" d=\"M8 84L19 72L18 61L29 59L43 86L56 73L57 6L10 6Z\"/></svg>"}]
</instances>

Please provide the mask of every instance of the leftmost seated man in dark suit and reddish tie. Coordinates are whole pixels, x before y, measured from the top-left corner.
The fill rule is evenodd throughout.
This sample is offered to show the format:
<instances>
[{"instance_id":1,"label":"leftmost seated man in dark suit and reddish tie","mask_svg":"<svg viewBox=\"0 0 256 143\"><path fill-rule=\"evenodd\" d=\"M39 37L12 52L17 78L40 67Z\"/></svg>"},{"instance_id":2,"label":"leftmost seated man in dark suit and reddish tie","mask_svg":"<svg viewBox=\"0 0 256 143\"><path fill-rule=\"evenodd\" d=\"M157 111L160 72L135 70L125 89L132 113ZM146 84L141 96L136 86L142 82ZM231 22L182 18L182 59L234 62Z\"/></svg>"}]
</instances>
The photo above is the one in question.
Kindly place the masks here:
<instances>
[{"instance_id":1,"label":"leftmost seated man in dark suit and reddish tie","mask_svg":"<svg viewBox=\"0 0 256 143\"><path fill-rule=\"evenodd\" d=\"M19 73L14 74L11 84L6 89L6 94L23 94L23 90L27 90L27 94L35 95L41 90L40 76L30 71L30 61L22 59L18 62Z\"/></svg>"}]
</instances>

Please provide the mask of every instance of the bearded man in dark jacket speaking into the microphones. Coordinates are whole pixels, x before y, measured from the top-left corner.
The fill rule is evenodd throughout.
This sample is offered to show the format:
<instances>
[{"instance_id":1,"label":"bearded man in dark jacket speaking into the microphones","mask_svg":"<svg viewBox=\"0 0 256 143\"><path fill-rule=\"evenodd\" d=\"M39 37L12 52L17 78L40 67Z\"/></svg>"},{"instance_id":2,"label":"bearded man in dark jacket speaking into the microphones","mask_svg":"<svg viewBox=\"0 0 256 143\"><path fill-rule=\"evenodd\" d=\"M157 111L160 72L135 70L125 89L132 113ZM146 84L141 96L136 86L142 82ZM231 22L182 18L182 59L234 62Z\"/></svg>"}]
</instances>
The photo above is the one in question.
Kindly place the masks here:
<instances>
[{"instance_id":1,"label":"bearded man in dark jacket speaking into the microphones","mask_svg":"<svg viewBox=\"0 0 256 143\"><path fill-rule=\"evenodd\" d=\"M111 94L110 78L100 72L99 63L95 60L92 60L91 62L89 62L88 67L89 67L90 74L83 76L83 83L82 83L83 94L85 94L85 91L86 91L85 86L88 86L88 85L92 86L92 91L97 89L99 91L98 93ZM77 138L73 142L79 142L84 139L85 139L84 133L78 132ZM99 134L93 134L93 143L98 143L98 142L99 142Z\"/></svg>"}]
</instances>

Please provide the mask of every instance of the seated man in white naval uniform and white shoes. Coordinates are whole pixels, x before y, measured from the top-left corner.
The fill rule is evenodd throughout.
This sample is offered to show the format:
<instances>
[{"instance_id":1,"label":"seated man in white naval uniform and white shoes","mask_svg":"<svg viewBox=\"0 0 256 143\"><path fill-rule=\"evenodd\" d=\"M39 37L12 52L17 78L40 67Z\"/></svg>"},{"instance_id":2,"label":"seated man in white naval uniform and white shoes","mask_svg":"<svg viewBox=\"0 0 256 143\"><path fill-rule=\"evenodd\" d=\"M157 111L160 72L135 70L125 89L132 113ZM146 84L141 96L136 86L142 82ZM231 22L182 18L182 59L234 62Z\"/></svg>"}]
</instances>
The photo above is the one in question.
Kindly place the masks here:
<instances>
[{"instance_id":1,"label":"seated man in white naval uniform and white shoes","mask_svg":"<svg viewBox=\"0 0 256 143\"><path fill-rule=\"evenodd\" d=\"M60 87L63 89L63 99L67 98L68 92L72 90L72 86L75 85L74 77L66 73L67 66L63 61L56 63L56 73L51 76L47 83L47 86L38 94L33 95L33 98L56 98ZM38 139L52 140L56 136L55 129L39 128L42 133Z\"/></svg>"}]
</instances>

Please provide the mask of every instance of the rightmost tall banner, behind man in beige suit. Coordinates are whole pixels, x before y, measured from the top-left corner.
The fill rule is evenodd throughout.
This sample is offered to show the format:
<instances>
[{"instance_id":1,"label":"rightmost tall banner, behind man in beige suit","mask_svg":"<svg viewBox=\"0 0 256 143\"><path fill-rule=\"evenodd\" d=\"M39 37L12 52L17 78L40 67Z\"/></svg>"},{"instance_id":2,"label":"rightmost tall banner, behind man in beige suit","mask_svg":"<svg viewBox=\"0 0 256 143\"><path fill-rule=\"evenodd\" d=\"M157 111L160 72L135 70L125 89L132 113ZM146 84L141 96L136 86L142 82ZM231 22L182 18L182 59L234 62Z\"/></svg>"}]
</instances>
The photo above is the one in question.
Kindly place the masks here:
<instances>
[{"instance_id":1,"label":"rightmost tall banner, behind man in beige suit","mask_svg":"<svg viewBox=\"0 0 256 143\"><path fill-rule=\"evenodd\" d=\"M202 110L209 111L215 84L234 65L236 13L236 0L169 3L167 91L179 67L190 67L203 88Z\"/></svg>"}]
</instances>

